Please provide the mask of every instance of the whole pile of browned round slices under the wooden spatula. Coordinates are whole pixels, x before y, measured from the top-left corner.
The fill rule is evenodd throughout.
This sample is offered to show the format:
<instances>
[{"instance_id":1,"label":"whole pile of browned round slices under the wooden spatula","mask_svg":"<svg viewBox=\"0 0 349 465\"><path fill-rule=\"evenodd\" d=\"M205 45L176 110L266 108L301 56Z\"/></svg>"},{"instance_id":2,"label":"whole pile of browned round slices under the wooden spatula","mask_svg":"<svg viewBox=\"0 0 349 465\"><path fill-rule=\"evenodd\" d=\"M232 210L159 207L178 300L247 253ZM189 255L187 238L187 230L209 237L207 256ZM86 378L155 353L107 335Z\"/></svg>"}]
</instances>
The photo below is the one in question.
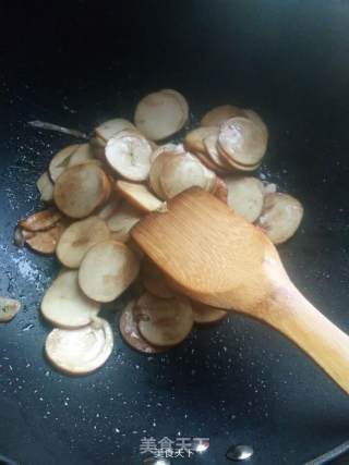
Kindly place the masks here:
<instances>
[{"instance_id":1,"label":"whole pile of browned round slices under the wooden spatula","mask_svg":"<svg viewBox=\"0 0 349 465\"><path fill-rule=\"evenodd\" d=\"M251 175L268 139L257 113L220 106L181 143L169 140L188 118L188 102L177 90L151 94L137 105L134 124L121 118L100 124L88 143L56 154L37 181L49 205L19 222L15 242L56 254L62 265L40 310L55 327L46 355L63 372L84 375L107 360L113 332L99 311L131 285L137 292L119 328L140 352L163 353L181 343L194 323L226 317L222 309L174 292L132 243L134 224L148 212L166 211L168 199L200 186L262 228L275 244L291 237L300 224L301 204Z\"/></svg>"}]
</instances>

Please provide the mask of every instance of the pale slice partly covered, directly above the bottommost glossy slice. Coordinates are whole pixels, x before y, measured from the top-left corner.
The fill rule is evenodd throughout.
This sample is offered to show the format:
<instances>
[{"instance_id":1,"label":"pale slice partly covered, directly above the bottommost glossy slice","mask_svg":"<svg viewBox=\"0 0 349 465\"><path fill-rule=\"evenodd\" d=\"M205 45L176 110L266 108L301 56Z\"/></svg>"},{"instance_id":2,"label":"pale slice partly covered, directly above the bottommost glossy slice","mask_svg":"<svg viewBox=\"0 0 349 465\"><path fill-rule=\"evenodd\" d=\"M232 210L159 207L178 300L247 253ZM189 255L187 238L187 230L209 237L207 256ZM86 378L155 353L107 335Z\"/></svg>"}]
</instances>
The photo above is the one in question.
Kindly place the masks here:
<instances>
[{"instance_id":1,"label":"pale slice partly covered, directly above the bottommost glossy slice","mask_svg":"<svg viewBox=\"0 0 349 465\"><path fill-rule=\"evenodd\" d=\"M77 271L62 271L46 291L41 314L53 326L81 328L96 317L100 305L87 298L79 287Z\"/></svg>"}]
</instances>

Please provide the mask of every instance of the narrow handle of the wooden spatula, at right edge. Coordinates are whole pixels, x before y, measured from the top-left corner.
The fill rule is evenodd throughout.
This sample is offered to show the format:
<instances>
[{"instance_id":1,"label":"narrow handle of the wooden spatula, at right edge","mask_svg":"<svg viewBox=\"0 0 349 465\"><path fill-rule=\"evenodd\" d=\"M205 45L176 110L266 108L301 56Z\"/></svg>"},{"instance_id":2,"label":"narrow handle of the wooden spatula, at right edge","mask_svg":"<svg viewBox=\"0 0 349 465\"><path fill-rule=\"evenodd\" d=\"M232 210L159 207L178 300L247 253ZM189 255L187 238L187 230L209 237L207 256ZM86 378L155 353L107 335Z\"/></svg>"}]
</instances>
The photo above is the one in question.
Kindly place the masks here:
<instances>
[{"instance_id":1,"label":"narrow handle of the wooden spatula, at right edge","mask_svg":"<svg viewBox=\"0 0 349 465\"><path fill-rule=\"evenodd\" d=\"M349 394L349 336L289 283L277 287L264 319L302 348Z\"/></svg>"}]
</instances>

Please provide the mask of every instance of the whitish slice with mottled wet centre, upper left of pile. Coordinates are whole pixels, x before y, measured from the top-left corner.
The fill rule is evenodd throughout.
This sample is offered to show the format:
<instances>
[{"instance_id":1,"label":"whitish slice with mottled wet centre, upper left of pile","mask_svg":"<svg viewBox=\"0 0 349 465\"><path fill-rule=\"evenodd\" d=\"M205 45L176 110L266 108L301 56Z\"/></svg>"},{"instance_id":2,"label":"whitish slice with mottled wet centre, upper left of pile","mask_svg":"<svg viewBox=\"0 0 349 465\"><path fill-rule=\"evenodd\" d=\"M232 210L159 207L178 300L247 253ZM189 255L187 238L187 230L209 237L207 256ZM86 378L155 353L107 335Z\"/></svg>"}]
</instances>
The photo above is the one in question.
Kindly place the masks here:
<instances>
[{"instance_id":1,"label":"whitish slice with mottled wet centre, upper left of pile","mask_svg":"<svg viewBox=\"0 0 349 465\"><path fill-rule=\"evenodd\" d=\"M145 181L151 170L152 152L152 146L141 134L122 131L108 140L106 160L127 180Z\"/></svg>"}]
</instances>

